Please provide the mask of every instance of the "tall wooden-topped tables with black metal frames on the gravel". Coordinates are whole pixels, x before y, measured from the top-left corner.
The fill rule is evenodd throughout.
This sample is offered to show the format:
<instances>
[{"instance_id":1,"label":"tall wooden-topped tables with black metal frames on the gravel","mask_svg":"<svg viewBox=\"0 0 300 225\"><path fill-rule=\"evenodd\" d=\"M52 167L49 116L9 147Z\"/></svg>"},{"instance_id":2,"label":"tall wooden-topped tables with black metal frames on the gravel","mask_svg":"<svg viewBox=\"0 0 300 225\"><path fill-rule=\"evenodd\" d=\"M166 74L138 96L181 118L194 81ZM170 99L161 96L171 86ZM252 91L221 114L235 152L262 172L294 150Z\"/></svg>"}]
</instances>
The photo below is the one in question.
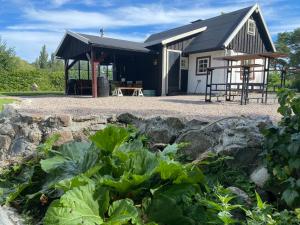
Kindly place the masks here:
<instances>
[{"instance_id":1,"label":"tall wooden-topped tables with black metal frames on the gravel","mask_svg":"<svg viewBox=\"0 0 300 225\"><path fill-rule=\"evenodd\" d=\"M206 74L206 90L205 90L205 101L211 102L213 92L224 92L226 101L231 101L236 95L233 91L240 92L240 103L241 105L247 104L249 102L249 93L258 92L261 93L260 98L262 103L267 103L268 101L268 81L269 73L271 71L281 72L282 85L284 85L286 70L278 70L277 68L270 68L271 61L276 58L286 58L287 54L283 53L259 53L259 54L244 54L235 56L224 56L217 57L216 60L223 60L227 62L227 66L210 67L207 69ZM263 64L250 64L250 60L262 59ZM236 62L238 65L233 65ZM261 70L255 70L254 68L261 68ZM213 83L213 73L214 70L226 69L226 79L225 83ZM236 83L232 82L233 69L240 69L242 74L242 82ZM250 83L250 73L260 72L263 73L261 82Z\"/></svg>"}]
</instances>

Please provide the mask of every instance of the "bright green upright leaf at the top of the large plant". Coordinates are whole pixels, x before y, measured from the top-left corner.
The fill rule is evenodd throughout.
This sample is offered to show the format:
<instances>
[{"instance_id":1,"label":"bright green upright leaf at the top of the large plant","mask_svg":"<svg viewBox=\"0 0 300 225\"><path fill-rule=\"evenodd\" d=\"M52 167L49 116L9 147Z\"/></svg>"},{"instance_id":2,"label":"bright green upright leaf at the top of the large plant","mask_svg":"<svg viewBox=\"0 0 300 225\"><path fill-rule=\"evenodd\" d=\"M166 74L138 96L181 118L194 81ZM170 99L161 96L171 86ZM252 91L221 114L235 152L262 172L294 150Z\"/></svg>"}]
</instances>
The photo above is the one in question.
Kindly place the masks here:
<instances>
[{"instance_id":1,"label":"bright green upright leaf at the top of the large plant","mask_svg":"<svg viewBox=\"0 0 300 225\"><path fill-rule=\"evenodd\" d=\"M113 150L124 143L130 133L123 127L108 126L91 136L91 141L102 151L111 153Z\"/></svg>"}]
</instances>

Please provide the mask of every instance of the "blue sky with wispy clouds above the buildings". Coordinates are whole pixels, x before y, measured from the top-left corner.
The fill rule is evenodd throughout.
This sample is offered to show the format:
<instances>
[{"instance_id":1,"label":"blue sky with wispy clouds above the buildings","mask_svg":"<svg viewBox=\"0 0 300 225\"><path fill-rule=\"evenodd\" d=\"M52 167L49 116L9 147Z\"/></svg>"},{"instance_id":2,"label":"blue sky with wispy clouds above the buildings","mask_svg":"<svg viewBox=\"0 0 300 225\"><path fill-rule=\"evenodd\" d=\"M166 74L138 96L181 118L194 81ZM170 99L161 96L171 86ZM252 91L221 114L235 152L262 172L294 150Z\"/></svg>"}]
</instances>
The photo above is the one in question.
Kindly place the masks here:
<instances>
[{"instance_id":1,"label":"blue sky with wispy clouds above the buildings","mask_svg":"<svg viewBox=\"0 0 300 225\"><path fill-rule=\"evenodd\" d=\"M32 62L66 29L143 41L149 34L259 3L273 39L300 27L300 0L0 0L0 36Z\"/></svg>"}]
</instances>

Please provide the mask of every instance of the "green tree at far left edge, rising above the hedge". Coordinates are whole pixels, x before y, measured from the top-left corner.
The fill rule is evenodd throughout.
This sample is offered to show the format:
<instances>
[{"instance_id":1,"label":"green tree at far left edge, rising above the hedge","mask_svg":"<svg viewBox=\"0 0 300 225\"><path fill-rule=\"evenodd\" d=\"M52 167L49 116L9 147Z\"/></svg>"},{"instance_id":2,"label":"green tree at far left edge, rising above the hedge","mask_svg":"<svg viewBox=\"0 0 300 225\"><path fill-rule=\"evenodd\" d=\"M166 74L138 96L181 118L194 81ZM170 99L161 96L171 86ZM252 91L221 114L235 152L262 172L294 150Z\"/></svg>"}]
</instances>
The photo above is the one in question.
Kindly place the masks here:
<instances>
[{"instance_id":1,"label":"green tree at far left edge, rising above the hedge","mask_svg":"<svg viewBox=\"0 0 300 225\"><path fill-rule=\"evenodd\" d=\"M15 51L0 37L0 71L11 71L14 67Z\"/></svg>"}]
</instances>

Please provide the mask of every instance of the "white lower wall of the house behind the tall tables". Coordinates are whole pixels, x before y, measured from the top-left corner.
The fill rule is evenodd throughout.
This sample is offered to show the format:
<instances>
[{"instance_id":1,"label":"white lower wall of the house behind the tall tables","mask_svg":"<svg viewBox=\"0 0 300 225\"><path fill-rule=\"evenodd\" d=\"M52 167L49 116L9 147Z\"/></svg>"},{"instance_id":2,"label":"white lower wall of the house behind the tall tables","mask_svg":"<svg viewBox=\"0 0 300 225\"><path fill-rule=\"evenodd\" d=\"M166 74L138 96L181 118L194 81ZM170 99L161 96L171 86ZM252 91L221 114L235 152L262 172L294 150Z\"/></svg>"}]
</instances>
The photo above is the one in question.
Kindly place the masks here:
<instances>
[{"instance_id":1,"label":"white lower wall of the house behind the tall tables","mask_svg":"<svg viewBox=\"0 0 300 225\"><path fill-rule=\"evenodd\" d=\"M213 51L213 52L204 52L197 54L189 55L189 72L188 72L188 88L187 92L189 94L204 94L206 88L206 75L197 75L196 74L196 66L197 66L197 58L198 57L206 57L210 56L211 58L211 67L217 66L227 66L226 61L216 60L214 58L230 56L230 55L242 55L243 53L234 52L233 50L221 50L221 51ZM233 63L233 65L238 65L239 63ZM264 64L262 59L255 60L255 64ZM262 70L261 67L254 68L259 71ZM239 72L239 68L232 69L232 83L242 83L241 73ZM226 73L227 69L216 69L213 71L213 83L225 83L226 81ZM255 76L253 80L250 80L250 83L261 83L263 80L263 72L255 72ZM199 84L198 84L199 83ZM197 87L198 84L198 87ZM197 87L197 89L196 89ZM219 88L222 88L221 86ZM224 87L225 89L225 87Z\"/></svg>"}]
</instances>

